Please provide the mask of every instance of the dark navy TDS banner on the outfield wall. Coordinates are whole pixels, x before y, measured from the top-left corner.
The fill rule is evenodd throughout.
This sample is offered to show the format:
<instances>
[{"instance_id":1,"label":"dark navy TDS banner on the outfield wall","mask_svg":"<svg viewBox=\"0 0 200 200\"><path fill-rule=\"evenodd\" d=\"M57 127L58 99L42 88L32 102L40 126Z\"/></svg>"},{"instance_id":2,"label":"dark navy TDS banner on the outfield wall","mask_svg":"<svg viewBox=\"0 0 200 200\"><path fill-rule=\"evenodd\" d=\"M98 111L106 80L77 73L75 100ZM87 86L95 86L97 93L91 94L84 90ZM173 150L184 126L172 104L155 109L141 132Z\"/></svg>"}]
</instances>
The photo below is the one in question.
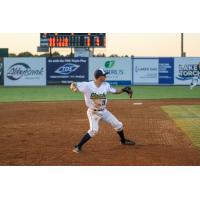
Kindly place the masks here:
<instances>
[{"instance_id":1,"label":"dark navy TDS banner on the outfield wall","mask_svg":"<svg viewBox=\"0 0 200 200\"><path fill-rule=\"evenodd\" d=\"M88 58L47 58L47 84L88 81Z\"/></svg>"}]
</instances>

